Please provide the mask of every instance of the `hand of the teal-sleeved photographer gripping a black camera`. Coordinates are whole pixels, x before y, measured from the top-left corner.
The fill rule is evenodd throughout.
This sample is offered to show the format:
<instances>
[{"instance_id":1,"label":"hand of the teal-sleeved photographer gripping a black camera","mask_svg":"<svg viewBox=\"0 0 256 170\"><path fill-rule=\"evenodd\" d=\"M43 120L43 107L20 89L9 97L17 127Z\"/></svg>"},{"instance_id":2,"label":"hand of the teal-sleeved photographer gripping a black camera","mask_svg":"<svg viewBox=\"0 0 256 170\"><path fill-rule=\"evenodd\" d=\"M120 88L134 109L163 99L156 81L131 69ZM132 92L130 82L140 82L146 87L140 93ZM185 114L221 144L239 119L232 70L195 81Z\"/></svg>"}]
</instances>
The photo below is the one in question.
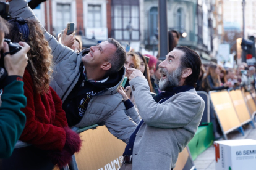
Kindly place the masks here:
<instances>
[{"instance_id":1,"label":"hand of the teal-sleeved photographer gripping a black camera","mask_svg":"<svg viewBox=\"0 0 256 170\"><path fill-rule=\"evenodd\" d=\"M30 50L30 46L25 42L19 42L19 44L23 47L20 51L13 55L7 54L4 57L4 66L9 76L23 76L28 64L27 52ZM4 42L3 51L4 53L9 52L9 47L6 42Z\"/></svg>"}]
</instances>

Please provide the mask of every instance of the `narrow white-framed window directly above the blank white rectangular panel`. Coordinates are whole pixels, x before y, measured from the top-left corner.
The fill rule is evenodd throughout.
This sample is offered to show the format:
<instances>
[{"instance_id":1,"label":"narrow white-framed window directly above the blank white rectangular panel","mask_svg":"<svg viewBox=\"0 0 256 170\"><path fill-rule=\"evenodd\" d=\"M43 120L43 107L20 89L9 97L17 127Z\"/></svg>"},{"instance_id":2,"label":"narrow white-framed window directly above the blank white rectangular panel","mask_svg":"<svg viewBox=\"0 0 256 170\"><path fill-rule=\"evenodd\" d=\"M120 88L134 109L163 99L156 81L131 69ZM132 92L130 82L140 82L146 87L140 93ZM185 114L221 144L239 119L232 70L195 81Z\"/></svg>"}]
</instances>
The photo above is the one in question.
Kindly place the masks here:
<instances>
[{"instance_id":1,"label":"narrow white-framed window directly above the blank white rectangular panel","mask_svg":"<svg viewBox=\"0 0 256 170\"><path fill-rule=\"evenodd\" d=\"M88 28L101 27L101 6L88 5Z\"/></svg>"}]
</instances>

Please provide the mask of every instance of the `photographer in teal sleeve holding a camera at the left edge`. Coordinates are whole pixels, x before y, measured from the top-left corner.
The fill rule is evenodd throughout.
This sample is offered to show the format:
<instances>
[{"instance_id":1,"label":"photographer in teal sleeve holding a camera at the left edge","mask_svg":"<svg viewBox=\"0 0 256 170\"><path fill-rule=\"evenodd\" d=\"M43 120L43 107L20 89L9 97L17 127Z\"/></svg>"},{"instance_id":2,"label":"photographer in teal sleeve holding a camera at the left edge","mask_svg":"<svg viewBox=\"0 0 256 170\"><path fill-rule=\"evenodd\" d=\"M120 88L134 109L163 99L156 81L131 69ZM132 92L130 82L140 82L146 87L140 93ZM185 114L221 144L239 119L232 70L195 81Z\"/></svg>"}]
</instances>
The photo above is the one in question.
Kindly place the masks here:
<instances>
[{"instance_id":1,"label":"photographer in teal sleeve holding a camera at the left edge","mask_svg":"<svg viewBox=\"0 0 256 170\"><path fill-rule=\"evenodd\" d=\"M27 104L22 76L27 66L27 52L30 46L25 42L19 42L23 48L10 55L8 44L4 42L4 34L7 33L9 33L7 22L0 17L0 51L2 50L2 54L4 54L0 57L4 57L4 67L6 68L6 70L0 68L0 86L4 88L0 107L0 158L11 156L26 123L26 117L20 109ZM2 62L0 64L2 65Z\"/></svg>"}]
</instances>

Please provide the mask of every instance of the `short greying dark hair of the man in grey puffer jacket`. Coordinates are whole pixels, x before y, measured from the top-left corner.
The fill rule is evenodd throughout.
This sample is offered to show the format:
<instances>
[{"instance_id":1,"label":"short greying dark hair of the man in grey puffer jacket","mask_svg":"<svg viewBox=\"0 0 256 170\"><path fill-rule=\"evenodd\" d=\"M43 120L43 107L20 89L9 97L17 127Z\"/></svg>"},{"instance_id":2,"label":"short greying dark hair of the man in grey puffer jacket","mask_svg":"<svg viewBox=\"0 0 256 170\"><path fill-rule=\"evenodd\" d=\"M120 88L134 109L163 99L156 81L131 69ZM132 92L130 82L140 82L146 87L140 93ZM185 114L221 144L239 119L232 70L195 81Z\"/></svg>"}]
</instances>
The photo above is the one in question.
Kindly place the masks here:
<instances>
[{"instance_id":1,"label":"short greying dark hair of the man in grey puffer jacket","mask_svg":"<svg viewBox=\"0 0 256 170\"><path fill-rule=\"evenodd\" d=\"M106 75L111 75L121 70L121 68L124 66L124 63L126 62L126 51L121 44L116 41L116 39L109 38L108 42L116 46L116 52L108 59L108 62L111 63L111 68L108 70Z\"/></svg>"}]
</instances>

